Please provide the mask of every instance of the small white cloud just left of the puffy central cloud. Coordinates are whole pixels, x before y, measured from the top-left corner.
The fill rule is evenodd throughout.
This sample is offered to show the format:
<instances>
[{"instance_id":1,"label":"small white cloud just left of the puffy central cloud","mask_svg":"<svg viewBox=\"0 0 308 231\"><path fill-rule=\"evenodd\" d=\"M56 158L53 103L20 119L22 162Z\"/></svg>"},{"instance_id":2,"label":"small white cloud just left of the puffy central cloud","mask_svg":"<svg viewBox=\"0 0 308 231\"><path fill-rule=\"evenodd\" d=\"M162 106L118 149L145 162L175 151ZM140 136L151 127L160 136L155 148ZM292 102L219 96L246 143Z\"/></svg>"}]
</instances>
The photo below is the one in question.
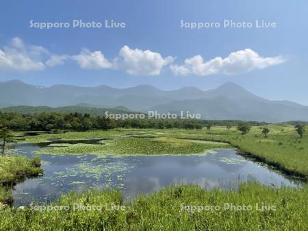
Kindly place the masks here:
<instances>
[{"instance_id":1,"label":"small white cloud just left of the puffy central cloud","mask_svg":"<svg viewBox=\"0 0 308 231\"><path fill-rule=\"evenodd\" d=\"M101 51L90 52L88 49L83 49L77 56L70 56L76 60L84 69L109 69L112 68L112 63L109 62Z\"/></svg>"}]
</instances>

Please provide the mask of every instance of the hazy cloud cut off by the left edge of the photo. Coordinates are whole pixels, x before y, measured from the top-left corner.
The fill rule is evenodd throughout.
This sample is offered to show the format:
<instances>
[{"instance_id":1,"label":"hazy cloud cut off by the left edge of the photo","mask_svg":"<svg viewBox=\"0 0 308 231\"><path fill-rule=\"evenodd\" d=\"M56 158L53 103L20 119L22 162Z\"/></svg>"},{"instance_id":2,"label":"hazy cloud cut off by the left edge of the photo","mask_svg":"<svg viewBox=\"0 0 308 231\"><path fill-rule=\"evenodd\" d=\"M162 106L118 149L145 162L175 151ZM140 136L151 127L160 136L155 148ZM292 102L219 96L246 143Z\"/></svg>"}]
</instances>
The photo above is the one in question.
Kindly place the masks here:
<instances>
[{"instance_id":1,"label":"hazy cloud cut off by the left edge of the photo","mask_svg":"<svg viewBox=\"0 0 308 231\"><path fill-rule=\"evenodd\" d=\"M27 46L21 38L13 38L8 47L0 49L0 71L42 71L40 60L48 51L40 46Z\"/></svg>"}]
</instances>

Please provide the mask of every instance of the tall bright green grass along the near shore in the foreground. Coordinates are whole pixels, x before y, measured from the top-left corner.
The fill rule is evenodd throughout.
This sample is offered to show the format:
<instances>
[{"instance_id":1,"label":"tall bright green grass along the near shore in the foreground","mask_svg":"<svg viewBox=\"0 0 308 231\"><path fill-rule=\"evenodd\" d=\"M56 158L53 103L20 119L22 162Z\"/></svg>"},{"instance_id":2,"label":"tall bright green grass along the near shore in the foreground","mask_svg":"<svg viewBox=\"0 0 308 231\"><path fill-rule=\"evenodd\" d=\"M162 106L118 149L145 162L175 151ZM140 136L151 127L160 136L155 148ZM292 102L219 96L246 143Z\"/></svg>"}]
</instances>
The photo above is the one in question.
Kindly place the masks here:
<instances>
[{"instance_id":1,"label":"tall bright green grass along the near shore in the foreground","mask_svg":"<svg viewBox=\"0 0 308 231\"><path fill-rule=\"evenodd\" d=\"M79 210L74 210L74 204L79 204ZM248 209L228 209L226 204ZM80 205L96 210L81 211ZM272 207L257 210L261 205ZM51 206L63 207L55 209ZM249 182L241 184L238 191L205 191L197 186L175 186L137 197L128 203L123 202L118 191L86 191L64 195L48 208L49 211L30 208L0 210L0 230L308 229L307 186L275 189Z\"/></svg>"}]
</instances>

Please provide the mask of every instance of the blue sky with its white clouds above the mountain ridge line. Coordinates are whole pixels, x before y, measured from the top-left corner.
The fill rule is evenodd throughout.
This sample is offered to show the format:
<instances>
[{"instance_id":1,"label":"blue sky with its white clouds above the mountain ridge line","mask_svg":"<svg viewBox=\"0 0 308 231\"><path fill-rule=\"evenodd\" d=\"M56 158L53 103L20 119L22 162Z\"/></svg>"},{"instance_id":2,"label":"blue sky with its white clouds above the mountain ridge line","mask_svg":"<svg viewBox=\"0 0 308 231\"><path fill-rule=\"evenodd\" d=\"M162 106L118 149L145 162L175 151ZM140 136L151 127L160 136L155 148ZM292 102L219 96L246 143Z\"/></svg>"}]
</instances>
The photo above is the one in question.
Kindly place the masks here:
<instances>
[{"instance_id":1,"label":"blue sky with its white clouds above the mountain ridge line","mask_svg":"<svg viewBox=\"0 0 308 231\"><path fill-rule=\"evenodd\" d=\"M308 105L307 9L304 0L2 1L0 81L164 89L209 89L235 82L268 99ZM126 27L29 27L30 20L74 19L113 19ZM277 27L181 28L181 20L224 19L258 19ZM48 62L53 56L57 62Z\"/></svg>"}]
</instances>

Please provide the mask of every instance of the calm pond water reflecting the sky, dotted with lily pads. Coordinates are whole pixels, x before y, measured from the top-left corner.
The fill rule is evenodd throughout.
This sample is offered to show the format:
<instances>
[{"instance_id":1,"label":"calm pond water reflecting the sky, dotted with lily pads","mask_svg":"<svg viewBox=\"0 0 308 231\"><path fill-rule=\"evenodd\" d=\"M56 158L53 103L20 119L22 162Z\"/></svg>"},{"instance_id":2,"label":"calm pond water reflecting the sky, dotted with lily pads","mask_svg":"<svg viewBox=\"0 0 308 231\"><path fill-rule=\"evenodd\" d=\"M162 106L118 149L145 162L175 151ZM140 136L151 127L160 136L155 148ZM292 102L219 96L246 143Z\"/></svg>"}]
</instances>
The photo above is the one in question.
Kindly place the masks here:
<instances>
[{"instance_id":1,"label":"calm pond water reflecting the sky, dotted with lily pads","mask_svg":"<svg viewBox=\"0 0 308 231\"><path fill-rule=\"evenodd\" d=\"M31 157L32 151L48 144L17 144L15 148ZM218 149L204 156L97 158L88 154L42 154L41 158L44 176L27 179L14 187L15 206L29 205L32 201L40 204L52 202L62 193L89 188L120 189L129 199L175 184L198 184L207 189L236 189L239 182L247 180L272 186L301 184L299 180L288 178L267 165L236 154L235 149Z\"/></svg>"}]
</instances>

